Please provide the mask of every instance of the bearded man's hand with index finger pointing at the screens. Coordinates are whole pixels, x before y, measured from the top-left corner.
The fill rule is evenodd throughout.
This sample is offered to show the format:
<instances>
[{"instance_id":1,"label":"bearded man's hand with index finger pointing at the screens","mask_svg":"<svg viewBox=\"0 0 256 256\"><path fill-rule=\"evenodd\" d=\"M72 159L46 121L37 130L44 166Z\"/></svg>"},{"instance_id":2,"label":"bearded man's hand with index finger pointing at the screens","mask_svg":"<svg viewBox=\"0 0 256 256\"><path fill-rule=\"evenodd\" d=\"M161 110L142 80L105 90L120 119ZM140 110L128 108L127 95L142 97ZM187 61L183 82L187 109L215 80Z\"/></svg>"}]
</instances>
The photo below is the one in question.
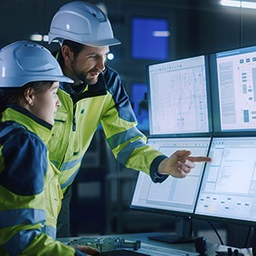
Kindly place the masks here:
<instances>
[{"instance_id":1,"label":"bearded man's hand with index finger pointing at the screens","mask_svg":"<svg viewBox=\"0 0 256 256\"><path fill-rule=\"evenodd\" d=\"M169 158L162 160L158 167L160 174L171 175L172 177L186 177L191 169L195 167L194 162L210 162L211 158L206 156L189 156L188 150L177 150Z\"/></svg>"}]
</instances>

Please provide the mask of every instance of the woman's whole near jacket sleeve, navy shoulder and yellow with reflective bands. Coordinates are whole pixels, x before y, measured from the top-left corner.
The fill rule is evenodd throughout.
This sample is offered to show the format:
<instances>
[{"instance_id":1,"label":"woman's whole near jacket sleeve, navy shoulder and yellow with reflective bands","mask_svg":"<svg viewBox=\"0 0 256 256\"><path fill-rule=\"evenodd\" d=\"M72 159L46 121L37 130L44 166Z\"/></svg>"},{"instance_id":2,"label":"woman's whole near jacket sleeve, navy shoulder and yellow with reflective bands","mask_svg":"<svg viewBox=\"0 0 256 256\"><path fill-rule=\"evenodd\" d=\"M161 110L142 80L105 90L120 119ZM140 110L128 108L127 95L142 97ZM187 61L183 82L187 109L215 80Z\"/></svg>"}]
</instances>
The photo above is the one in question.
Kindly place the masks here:
<instances>
[{"instance_id":1,"label":"woman's whole near jacket sleeve, navy shoulder and yellow with reflective bands","mask_svg":"<svg viewBox=\"0 0 256 256\"><path fill-rule=\"evenodd\" d=\"M0 163L4 163L0 165L0 254L75 255L73 247L43 231L48 166L44 143L23 134L0 148Z\"/></svg>"}]
</instances>

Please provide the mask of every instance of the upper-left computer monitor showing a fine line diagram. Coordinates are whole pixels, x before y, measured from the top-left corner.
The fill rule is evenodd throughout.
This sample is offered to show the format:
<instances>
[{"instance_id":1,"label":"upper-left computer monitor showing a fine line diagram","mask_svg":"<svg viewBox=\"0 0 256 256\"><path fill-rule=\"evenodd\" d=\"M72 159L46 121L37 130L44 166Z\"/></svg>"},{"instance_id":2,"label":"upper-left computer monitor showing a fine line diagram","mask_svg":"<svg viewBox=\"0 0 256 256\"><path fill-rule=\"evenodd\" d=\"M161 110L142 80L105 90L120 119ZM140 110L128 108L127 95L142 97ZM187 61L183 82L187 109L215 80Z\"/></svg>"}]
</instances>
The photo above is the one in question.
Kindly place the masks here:
<instances>
[{"instance_id":1,"label":"upper-left computer monitor showing a fine line diagram","mask_svg":"<svg viewBox=\"0 0 256 256\"><path fill-rule=\"evenodd\" d=\"M147 73L150 135L212 131L206 55L149 65Z\"/></svg>"}]
</instances>

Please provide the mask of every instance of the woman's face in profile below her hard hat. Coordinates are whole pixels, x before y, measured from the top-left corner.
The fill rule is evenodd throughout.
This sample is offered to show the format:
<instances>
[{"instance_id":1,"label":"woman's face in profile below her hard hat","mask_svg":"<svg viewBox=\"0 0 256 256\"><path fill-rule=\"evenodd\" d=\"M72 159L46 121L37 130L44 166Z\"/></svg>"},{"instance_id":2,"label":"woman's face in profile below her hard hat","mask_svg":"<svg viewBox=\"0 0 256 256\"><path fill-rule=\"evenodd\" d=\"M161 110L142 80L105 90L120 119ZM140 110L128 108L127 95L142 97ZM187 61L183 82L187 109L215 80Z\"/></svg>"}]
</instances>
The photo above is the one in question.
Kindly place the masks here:
<instances>
[{"instance_id":1,"label":"woman's face in profile below her hard hat","mask_svg":"<svg viewBox=\"0 0 256 256\"><path fill-rule=\"evenodd\" d=\"M59 82L55 82L49 89L43 92L38 93L34 91L32 105L29 108L33 114L40 119L44 119L50 125L54 125L56 110L61 106L57 96L58 88Z\"/></svg>"}]
</instances>

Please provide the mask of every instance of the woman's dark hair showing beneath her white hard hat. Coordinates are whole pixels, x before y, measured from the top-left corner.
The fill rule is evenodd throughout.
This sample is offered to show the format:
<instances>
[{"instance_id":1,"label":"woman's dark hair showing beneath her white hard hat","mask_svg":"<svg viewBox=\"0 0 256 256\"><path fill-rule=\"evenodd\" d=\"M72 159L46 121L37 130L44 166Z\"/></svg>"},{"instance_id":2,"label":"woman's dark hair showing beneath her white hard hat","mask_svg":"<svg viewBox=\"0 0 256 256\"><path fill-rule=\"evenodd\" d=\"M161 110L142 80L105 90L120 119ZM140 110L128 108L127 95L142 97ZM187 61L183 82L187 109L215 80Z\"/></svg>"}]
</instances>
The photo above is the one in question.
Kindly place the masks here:
<instances>
[{"instance_id":1,"label":"woman's dark hair showing beneath her white hard hat","mask_svg":"<svg viewBox=\"0 0 256 256\"><path fill-rule=\"evenodd\" d=\"M21 99L24 96L24 92L28 88L32 88L38 94L43 93L45 90L48 90L53 81L39 81L39 82L30 82L21 87L0 87L0 112L9 105L20 105Z\"/></svg>"}]
</instances>

